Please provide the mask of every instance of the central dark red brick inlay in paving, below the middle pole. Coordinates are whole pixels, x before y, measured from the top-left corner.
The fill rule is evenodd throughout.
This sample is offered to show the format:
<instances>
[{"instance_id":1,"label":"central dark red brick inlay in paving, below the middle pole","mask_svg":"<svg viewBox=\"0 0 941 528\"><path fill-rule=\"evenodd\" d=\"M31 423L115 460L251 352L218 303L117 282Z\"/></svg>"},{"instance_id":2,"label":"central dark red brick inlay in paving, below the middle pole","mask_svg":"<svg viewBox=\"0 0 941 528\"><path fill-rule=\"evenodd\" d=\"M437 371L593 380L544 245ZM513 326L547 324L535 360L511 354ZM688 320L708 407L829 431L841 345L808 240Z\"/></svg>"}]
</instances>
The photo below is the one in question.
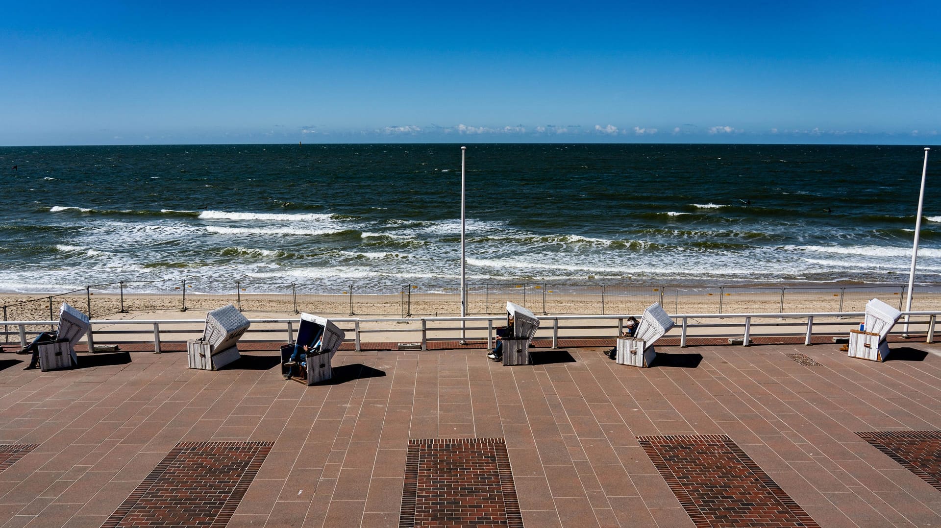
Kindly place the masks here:
<instances>
[{"instance_id":1,"label":"central dark red brick inlay in paving, below the middle pole","mask_svg":"<svg viewBox=\"0 0 941 528\"><path fill-rule=\"evenodd\" d=\"M522 528L503 439L409 440L400 528Z\"/></svg>"}]
</instances>

